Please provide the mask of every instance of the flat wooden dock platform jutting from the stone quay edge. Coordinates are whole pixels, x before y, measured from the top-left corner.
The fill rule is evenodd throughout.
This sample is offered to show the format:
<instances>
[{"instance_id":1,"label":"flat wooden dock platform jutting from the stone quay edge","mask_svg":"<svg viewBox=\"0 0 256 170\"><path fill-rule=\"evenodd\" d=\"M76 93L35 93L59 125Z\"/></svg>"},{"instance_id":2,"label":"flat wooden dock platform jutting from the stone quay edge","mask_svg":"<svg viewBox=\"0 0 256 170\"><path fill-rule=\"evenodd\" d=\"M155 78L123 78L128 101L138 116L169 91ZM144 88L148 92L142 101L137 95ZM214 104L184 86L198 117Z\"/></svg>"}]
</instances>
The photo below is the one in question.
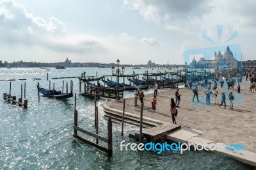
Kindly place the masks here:
<instances>
[{"instance_id":1,"label":"flat wooden dock platform jutting from the stone quay edge","mask_svg":"<svg viewBox=\"0 0 256 170\"><path fill-rule=\"evenodd\" d=\"M163 125L159 125L157 127L148 128L142 131L143 137L147 138L149 141L157 141L166 134L173 132L175 130L180 129L180 125L164 123Z\"/></svg>"}]
</instances>

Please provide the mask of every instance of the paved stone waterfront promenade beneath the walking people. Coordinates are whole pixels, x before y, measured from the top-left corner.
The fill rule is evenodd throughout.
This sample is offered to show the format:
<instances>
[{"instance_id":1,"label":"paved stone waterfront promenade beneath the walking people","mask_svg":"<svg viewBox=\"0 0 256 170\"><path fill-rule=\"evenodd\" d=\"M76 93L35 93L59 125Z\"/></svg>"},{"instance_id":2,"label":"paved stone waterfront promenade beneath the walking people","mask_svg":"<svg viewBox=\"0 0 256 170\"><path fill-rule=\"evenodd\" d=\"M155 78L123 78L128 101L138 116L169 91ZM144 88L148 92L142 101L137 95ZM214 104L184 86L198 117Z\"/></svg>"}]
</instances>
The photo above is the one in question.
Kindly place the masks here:
<instances>
[{"instance_id":1,"label":"paved stone waterfront promenade beneath the walking people","mask_svg":"<svg viewBox=\"0 0 256 170\"><path fill-rule=\"evenodd\" d=\"M206 104L204 88L198 88L200 102L196 102L196 98L195 102L192 102L192 90L180 88L179 93L182 96L180 108L177 108L179 111L176 118L177 124L182 125L183 128L189 128L192 131L197 130L195 132L198 132L197 136L200 137L200 139L212 141L213 143L223 143L226 145L244 144L246 154L240 154L241 157L252 157L253 160L251 161L256 162L256 93L249 92L248 83L249 82L241 83L241 94L237 93L236 88L228 91L227 84L225 84L222 89L218 86L218 102L221 103L221 93L225 92L227 98L226 109L224 109L223 105L220 108L219 105L212 104L212 97L211 104ZM168 89L157 94L158 101L156 112L152 112L151 99L153 94L145 95L143 119L155 125L166 122L172 123L172 116L169 114L170 98L175 99L175 91L176 89ZM234 109L228 108L230 103L228 94L230 91L233 92L235 97ZM138 100L138 104L140 105L140 100ZM111 100L107 102L104 107L110 111L112 110L113 112L122 114L123 103ZM140 107L134 107L133 97L126 98L125 100L125 114L130 118L140 116ZM252 155L250 155L250 153L252 153ZM229 155L232 156L232 154Z\"/></svg>"}]
</instances>

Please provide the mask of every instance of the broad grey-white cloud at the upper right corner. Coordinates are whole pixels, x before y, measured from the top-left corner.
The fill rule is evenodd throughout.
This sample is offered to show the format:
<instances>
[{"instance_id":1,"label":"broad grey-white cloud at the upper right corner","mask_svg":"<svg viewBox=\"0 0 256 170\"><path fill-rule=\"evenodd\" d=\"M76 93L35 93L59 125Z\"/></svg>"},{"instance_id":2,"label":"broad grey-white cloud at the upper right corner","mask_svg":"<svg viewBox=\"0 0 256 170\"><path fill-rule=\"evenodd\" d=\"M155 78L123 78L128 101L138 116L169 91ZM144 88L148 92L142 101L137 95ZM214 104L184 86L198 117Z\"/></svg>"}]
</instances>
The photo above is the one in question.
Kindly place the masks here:
<instances>
[{"instance_id":1,"label":"broad grey-white cloud at the upper right corner","mask_svg":"<svg viewBox=\"0 0 256 170\"><path fill-rule=\"evenodd\" d=\"M202 34L205 29L213 31L211 27L216 24L253 32L256 28L255 6L253 0L246 3L240 0L124 0L124 8L138 11L148 22L191 35Z\"/></svg>"}]
</instances>

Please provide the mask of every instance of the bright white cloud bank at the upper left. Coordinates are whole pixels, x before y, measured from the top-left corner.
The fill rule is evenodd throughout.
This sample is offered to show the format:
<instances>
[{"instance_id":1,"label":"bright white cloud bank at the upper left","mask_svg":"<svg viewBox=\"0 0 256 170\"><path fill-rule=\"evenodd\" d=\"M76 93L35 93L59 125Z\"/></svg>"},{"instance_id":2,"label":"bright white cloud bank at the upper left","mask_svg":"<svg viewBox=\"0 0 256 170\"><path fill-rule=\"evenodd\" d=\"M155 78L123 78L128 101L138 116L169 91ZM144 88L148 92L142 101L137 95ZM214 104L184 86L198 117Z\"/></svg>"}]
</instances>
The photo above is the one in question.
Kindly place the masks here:
<instances>
[{"instance_id":1,"label":"bright white cloud bank at the upper left","mask_svg":"<svg viewBox=\"0 0 256 170\"><path fill-rule=\"evenodd\" d=\"M49 20L33 16L22 4L13 0L0 1L0 43L37 45L65 52L100 52L108 43L92 35L67 36L65 24L56 17Z\"/></svg>"}]
</instances>

